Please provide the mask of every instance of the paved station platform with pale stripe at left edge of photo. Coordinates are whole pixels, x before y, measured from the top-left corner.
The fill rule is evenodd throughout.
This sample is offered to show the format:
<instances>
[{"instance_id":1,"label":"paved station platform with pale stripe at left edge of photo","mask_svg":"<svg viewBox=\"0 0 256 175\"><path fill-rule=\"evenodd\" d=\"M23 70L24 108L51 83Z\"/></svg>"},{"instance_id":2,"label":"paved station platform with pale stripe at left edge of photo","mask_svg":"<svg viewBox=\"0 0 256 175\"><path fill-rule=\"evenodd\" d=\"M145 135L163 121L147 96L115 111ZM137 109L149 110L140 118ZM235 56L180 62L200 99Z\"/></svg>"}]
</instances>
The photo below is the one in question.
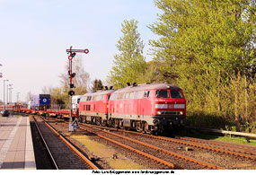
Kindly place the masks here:
<instances>
[{"instance_id":1,"label":"paved station platform with pale stripe at left edge of photo","mask_svg":"<svg viewBox=\"0 0 256 175\"><path fill-rule=\"evenodd\" d=\"M36 170L29 117L0 117L0 169Z\"/></svg>"}]
</instances>

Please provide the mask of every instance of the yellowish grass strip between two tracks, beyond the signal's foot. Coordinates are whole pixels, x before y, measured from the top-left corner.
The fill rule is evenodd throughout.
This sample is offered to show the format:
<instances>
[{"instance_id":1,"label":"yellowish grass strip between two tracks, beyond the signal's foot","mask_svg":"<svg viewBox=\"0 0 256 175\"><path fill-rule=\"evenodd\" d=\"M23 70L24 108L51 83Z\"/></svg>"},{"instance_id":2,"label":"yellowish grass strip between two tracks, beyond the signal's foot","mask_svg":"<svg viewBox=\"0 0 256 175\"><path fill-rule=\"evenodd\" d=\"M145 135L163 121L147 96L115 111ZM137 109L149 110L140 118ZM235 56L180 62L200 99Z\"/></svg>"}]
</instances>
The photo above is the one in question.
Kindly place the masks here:
<instances>
[{"instance_id":1,"label":"yellowish grass strip between two tracks, beyond the signal's foot","mask_svg":"<svg viewBox=\"0 0 256 175\"><path fill-rule=\"evenodd\" d=\"M132 162L130 159L117 153L114 149L105 144L99 144L89 138L89 136L71 136L89 150L92 155L101 157L103 160L110 164L114 170L141 170L145 169L143 166ZM117 155L117 159L113 159L113 154Z\"/></svg>"}]
</instances>

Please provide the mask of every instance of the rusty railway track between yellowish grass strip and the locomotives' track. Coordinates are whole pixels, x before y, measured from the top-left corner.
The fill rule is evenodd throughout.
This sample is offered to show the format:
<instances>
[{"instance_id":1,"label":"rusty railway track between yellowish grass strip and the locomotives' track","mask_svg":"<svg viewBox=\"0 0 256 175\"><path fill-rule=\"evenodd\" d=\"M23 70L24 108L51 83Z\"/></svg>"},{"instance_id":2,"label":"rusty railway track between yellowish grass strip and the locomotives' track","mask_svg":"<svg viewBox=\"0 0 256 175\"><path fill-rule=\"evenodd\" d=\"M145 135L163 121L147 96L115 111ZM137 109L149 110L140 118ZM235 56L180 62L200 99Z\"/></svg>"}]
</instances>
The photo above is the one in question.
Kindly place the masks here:
<instances>
[{"instance_id":1,"label":"rusty railway track between yellowish grass strip and the locomotives' track","mask_svg":"<svg viewBox=\"0 0 256 175\"><path fill-rule=\"evenodd\" d=\"M80 124L80 129L93 135L99 136L102 139L111 142L112 144L118 144L119 146L131 152L142 155L147 159L157 162L158 164L162 164L164 169L223 169L216 165L212 165L207 162L201 162L179 153L173 153L171 151L164 150L163 148L146 144L126 136L110 133L108 131L102 130L101 128L92 127L91 125ZM163 157L159 157L159 155L163 155ZM170 161L175 163L170 163Z\"/></svg>"}]
</instances>

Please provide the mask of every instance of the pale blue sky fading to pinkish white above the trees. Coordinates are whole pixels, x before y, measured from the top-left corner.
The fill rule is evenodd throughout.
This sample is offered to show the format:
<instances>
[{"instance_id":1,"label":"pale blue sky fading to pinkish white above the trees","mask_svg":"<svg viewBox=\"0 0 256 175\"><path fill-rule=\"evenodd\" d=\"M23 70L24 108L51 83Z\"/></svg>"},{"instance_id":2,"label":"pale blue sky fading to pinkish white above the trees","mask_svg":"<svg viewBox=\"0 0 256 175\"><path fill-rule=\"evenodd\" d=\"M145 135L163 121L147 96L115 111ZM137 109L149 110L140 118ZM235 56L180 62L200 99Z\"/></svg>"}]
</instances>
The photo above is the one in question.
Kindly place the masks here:
<instances>
[{"instance_id":1,"label":"pale blue sky fading to pinkish white above the trees","mask_svg":"<svg viewBox=\"0 0 256 175\"><path fill-rule=\"evenodd\" d=\"M146 26L156 22L156 13L153 0L0 0L0 99L4 79L13 83L13 101L17 92L24 101L28 92L59 86L70 46L89 48L82 56L85 70L91 81L105 81L124 20L138 21L150 60L148 39L157 36Z\"/></svg>"}]
</instances>

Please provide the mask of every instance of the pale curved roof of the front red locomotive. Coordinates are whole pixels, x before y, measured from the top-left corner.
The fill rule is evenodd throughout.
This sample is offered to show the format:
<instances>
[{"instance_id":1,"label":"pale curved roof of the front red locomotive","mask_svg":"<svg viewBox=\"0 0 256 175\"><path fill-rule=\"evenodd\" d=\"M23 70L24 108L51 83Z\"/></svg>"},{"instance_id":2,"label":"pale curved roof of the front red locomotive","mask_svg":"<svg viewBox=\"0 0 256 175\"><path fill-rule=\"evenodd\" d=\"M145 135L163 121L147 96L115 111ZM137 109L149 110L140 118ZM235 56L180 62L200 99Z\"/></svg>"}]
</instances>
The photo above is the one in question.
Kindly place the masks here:
<instances>
[{"instance_id":1,"label":"pale curved roof of the front red locomotive","mask_svg":"<svg viewBox=\"0 0 256 175\"><path fill-rule=\"evenodd\" d=\"M158 90L158 89L181 89L181 88L169 83L148 83L148 84L144 83L144 84L138 84L136 86L133 86L133 85L127 86L117 90L116 92L134 92L134 91L152 90L152 89Z\"/></svg>"}]
</instances>

